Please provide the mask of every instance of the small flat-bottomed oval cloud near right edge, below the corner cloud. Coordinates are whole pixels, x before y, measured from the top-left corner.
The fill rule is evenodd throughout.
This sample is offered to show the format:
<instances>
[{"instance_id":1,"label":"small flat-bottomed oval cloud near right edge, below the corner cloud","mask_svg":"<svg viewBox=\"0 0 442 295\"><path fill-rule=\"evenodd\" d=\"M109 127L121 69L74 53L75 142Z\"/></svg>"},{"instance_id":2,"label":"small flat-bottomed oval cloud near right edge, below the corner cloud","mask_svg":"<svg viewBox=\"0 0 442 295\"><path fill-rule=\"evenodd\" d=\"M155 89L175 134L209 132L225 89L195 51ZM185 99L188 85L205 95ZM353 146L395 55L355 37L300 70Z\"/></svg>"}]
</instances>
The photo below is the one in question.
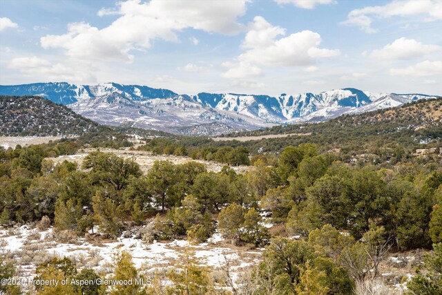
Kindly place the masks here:
<instances>
[{"instance_id":1,"label":"small flat-bottomed oval cloud near right edge, below the corner cloud","mask_svg":"<svg viewBox=\"0 0 442 295\"><path fill-rule=\"evenodd\" d=\"M373 50L370 57L377 59L414 59L439 50L441 50L441 46L424 45L414 39L402 37L381 49Z\"/></svg>"}]
</instances>

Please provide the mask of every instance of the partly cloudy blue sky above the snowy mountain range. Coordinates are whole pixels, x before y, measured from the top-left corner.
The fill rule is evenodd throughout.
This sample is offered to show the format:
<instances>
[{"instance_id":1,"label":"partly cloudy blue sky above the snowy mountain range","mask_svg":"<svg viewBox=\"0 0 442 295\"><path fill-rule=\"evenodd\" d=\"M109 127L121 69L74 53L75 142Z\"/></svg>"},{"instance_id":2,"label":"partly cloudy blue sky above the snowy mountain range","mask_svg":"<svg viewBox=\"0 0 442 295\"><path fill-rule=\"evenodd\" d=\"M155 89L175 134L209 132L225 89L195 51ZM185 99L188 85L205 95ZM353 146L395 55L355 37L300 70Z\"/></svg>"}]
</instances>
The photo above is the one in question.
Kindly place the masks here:
<instances>
[{"instance_id":1,"label":"partly cloudy blue sky above the snowy mountain range","mask_svg":"<svg viewBox=\"0 0 442 295\"><path fill-rule=\"evenodd\" d=\"M0 84L442 95L442 0L0 0Z\"/></svg>"}]
</instances>

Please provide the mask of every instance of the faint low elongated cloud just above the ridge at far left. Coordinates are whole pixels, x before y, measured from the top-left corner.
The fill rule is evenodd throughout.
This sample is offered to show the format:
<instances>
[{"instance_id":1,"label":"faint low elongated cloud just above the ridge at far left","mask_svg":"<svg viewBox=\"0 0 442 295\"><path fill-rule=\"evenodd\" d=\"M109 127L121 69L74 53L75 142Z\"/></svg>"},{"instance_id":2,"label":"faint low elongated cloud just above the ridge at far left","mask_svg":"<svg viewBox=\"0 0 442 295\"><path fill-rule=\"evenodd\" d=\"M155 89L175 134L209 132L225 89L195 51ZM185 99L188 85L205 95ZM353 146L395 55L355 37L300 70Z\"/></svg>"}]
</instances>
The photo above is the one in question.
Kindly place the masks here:
<instances>
[{"instance_id":1,"label":"faint low elongated cloud just above the ridge at far left","mask_svg":"<svg viewBox=\"0 0 442 295\"><path fill-rule=\"evenodd\" d=\"M51 81L90 82L96 80L90 69L77 62L53 64L47 59L36 56L17 57L9 62L8 67L31 77L40 76Z\"/></svg>"}]
</instances>

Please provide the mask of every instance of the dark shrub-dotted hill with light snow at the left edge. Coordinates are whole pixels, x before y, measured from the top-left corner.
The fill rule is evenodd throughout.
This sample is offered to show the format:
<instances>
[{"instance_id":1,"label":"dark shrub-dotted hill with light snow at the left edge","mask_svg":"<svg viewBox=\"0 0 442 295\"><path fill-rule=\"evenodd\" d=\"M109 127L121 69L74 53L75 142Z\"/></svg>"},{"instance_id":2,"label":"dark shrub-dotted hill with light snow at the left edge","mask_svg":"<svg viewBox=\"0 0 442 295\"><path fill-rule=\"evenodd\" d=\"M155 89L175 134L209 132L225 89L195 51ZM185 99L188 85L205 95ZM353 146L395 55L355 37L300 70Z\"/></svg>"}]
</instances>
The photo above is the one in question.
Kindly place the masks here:
<instances>
[{"instance_id":1,"label":"dark shrub-dotted hill with light snow at the left edge","mask_svg":"<svg viewBox=\"0 0 442 295\"><path fill-rule=\"evenodd\" d=\"M36 96L0 96L0 135L60 136L96 132L99 125Z\"/></svg>"}]
</instances>

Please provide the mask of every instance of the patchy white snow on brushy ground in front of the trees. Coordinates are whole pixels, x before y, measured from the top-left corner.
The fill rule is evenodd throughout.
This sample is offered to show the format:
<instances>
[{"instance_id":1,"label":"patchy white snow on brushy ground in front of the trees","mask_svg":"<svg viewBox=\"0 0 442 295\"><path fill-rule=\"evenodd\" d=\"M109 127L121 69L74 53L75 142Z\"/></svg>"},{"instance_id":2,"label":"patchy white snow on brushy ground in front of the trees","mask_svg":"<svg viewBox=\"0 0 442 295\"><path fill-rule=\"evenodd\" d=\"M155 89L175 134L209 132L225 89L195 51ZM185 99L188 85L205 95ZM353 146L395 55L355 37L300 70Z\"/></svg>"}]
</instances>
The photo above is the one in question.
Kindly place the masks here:
<instances>
[{"instance_id":1,"label":"patchy white snow on brushy ground in front of the trees","mask_svg":"<svg viewBox=\"0 0 442 295\"><path fill-rule=\"evenodd\" d=\"M38 253L34 249L37 247ZM122 250L131 254L136 267L143 268L147 272L176 265L187 251L193 254L200 265L214 269L223 267L226 259L229 260L232 272L236 273L234 276L238 276L238 272L244 267L257 264L262 254L260 250L248 251L246 248L225 244L218 233L213 234L208 242L198 245L192 245L186 240L154 241L147 244L133 237L120 237L117 240L100 242L78 238L75 243L65 243L54 239L52 228L44 231L32 229L28 225L15 229L0 228L0 253L15 258L17 266L21 267L21 276L24 278L35 276L37 265L33 263L34 258L25 260L23 257L28 258L33 255L43 257L46 253L46 260L48 260L52 256L68 256L80 264L77 264L77 267L105 269L112 267L113 256Z\"/></svg>"}]
</instances>

